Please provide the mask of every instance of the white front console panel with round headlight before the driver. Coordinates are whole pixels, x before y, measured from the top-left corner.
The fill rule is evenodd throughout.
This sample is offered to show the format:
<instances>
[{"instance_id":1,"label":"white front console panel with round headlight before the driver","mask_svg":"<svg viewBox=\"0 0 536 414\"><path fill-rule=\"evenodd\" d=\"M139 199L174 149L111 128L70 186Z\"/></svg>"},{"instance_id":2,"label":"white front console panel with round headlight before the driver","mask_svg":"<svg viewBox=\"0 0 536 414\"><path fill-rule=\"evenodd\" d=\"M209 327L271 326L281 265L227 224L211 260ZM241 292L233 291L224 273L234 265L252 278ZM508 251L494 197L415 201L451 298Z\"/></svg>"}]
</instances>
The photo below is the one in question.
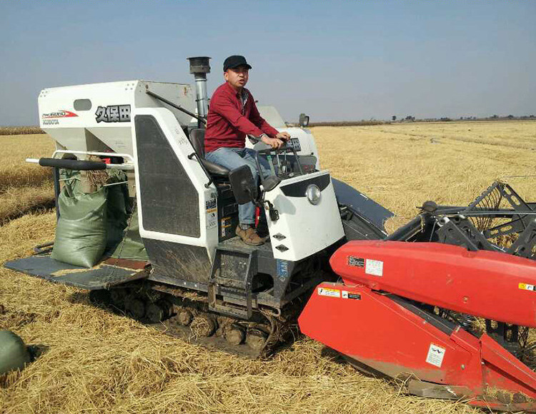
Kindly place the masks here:
<instances>
[{"instance_id":1,"label":"white front console panel with round headlight before the driver","mask_svg":"<svg viewBox=\"0 0 536 414\"><path fill-rule=\"evenodd\" d=\"M266 193L265 199L279 211L277 221L272 222L267 214L274 258L299 261L331 246L344 236L331 178L328 186L322 191L322 198L317 205L309 203L305 196L289 197L282 192L284 186L292 186L294 183L324 175L329 176L329 172L319 171L289 178ZM284 238L277 240L274 238L277 234ZM288 250L279 251L277 249L279 245L287 247Z\"/></svg>"}]
</instances>

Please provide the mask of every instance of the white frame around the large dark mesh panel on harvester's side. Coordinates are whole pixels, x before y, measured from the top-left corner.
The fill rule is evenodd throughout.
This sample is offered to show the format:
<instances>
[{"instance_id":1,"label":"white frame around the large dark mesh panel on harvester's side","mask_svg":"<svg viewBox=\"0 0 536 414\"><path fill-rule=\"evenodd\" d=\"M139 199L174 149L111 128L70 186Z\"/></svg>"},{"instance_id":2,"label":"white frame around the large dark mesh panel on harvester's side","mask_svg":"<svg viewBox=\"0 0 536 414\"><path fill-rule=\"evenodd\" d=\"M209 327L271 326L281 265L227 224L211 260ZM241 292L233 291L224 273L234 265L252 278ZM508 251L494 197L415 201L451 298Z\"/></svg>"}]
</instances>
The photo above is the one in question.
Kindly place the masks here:
<instances>
[{"instance_id":1,"label":"white frame around the large dark mesh panel on harvester's side","mask_svg":"<svg viewBox=\"0 0 536 414\"><path fill-rule=\"evenodd\" d=\"M200 236L189 237L179 236L177 234L159 233L156 231L148 231L144 228L143 214L142 214L142 200L139 185L136 188L137 203L139 211L139 233L144 238L152 238L161 241L171 241L174 243L183 243L191 246L202 246L207 248L209 257L214 258L214 252L218 243L218 226L217 220L211 219L211 212L207 212L207 202L216 200L217 191L214 184L211 184L209 188L205 187L209 178L204 173L201 166L197 162L196 158L189 159L188 156L194 152L192 144L189 143L188 138L184 135L184 131L175 118L174 114L166 108L139 108L133 113L132 122L132 137L134 147L134 160L138 159L137 153L137 136L134 127L134 117L137 115L150 115L154 116L159 123L160 128L164 132L168 142L172 146L174 153L177 155L180 163L182 164L184 171L187 172L190 180L197 189L199 196L199 222L200 222ZM136 182L139 183L139 168L136 169ZM165 197L165 194L162 194ZM189 194L185 193L184 197L188 197Z\"/></svg>"}]
</instances>

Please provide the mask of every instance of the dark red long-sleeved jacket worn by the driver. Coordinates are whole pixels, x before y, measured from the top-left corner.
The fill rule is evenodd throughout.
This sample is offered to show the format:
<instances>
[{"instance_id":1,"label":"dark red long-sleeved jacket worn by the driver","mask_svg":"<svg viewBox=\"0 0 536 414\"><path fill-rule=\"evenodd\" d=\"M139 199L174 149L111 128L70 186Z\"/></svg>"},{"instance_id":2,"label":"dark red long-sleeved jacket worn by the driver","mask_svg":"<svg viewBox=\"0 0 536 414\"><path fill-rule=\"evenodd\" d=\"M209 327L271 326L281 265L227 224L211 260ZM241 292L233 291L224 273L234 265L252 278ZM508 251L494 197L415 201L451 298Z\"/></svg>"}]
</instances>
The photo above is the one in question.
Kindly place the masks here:
<instances>
[{"instance_id":1,"label":"dark red long-sleeved jacket worn by the driver","mask_svg":"<svg viewBox=\"0 0 536 414\"><path fill-rule=\"evenodd\" d=\"M242 107L239 93L227 82L214 91L204 134L205 153L222 146L244 148L246 134L257 137L266 133L272 138L277 135L277 129L260 116L251 92L245 88L244 92L247 93L247 101Z\"/></svg>"}]
</instances>

